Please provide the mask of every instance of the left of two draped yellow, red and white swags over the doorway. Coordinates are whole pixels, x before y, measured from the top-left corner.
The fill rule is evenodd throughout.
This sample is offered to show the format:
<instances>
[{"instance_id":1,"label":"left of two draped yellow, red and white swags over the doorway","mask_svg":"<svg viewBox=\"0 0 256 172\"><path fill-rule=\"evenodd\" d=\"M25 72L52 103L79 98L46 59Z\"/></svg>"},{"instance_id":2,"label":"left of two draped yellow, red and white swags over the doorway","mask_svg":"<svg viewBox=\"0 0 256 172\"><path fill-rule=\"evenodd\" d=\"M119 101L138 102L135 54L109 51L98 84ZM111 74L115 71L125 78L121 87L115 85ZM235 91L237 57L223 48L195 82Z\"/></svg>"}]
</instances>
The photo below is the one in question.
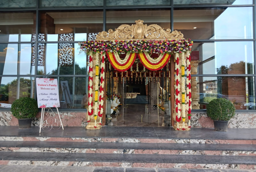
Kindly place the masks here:
<instances>
[{"instance_id":1,"label":"left of two draped yellow, red and white swags over the doorway","mask_svg":"<svg viewBox=\"0 0 256 172\"><path fill-rule=\"evenodd\" d=\"M115 55L118 55L117 53L112 53L112 52L108 52L107 56L108 56L108 60L110 61L110 63L112 64L112 66L117 70L117 71L127 71L129 68L131 68L131 66L133 65L135 59L136 59L136 54L135 53L130 53L127 52L128 59L125 63L121 64L122 61L120 61L120 57L118 55L118 57L116 57Z\"/></svg>"}]
</instances>

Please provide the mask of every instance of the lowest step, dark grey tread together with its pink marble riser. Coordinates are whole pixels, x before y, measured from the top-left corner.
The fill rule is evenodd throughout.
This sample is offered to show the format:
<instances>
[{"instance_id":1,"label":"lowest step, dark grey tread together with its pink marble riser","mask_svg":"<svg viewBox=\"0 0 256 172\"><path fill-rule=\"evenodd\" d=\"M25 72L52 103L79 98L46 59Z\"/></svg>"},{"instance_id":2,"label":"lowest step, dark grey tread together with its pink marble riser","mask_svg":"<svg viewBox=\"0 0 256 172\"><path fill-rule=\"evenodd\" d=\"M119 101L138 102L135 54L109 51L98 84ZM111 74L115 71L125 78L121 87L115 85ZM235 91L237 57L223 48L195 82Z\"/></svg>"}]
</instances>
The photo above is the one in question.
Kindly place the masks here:
<instances>
[{"instance_id":1,"label":"lowest step, dark grey tread together with its pink marble riser","mask_svg":"<svg viewBox=\"0 0 256 172\"><path fill-rule=\"evenodd\" d=\"M0 152L0 165L255 169L256 156Z\"/></svg>"}]
</instances>

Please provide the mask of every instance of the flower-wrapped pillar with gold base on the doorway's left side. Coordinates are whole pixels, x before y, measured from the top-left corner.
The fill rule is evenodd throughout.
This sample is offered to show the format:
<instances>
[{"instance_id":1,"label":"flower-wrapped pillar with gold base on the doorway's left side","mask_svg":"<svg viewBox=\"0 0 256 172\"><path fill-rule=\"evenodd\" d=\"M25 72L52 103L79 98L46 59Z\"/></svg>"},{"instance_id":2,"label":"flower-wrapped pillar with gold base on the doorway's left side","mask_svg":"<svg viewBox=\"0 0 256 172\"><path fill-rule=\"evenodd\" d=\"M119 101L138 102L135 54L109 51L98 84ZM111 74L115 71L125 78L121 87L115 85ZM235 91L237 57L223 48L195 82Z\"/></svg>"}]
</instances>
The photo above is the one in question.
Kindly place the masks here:
<instances>
[{"instance_id":1,"label":"flower-wrapped pillar with gold base on the doorway's left side","mask_svg":"<svg viewBox=\"0 0 256 172\"><path fill-rule=\"evenodd\" d=\"M89 119L87 120L88 125L86 126L86 129L100 129L102 126L99 124L100 122L100 118L98 118L98 111L99 111L99 58L100 58L100 54L96 53L91 55L92 56L92 62L90 60L90 68L91 68L91 64L92 64L92 68L91 70L93 70L93 72L89 72L89 76L91 76L91 74L93 75L93 80L92 83L90 83L89 80L89 86L92 84L92 97L90 96L90 98L92 98L92 102L94 101L93 104L93 108L92 111L89 114ZM91 86L89 89L89 93L91 90ZM90 99L89 99L90 102Z\"/></svg>"}]
</instances>

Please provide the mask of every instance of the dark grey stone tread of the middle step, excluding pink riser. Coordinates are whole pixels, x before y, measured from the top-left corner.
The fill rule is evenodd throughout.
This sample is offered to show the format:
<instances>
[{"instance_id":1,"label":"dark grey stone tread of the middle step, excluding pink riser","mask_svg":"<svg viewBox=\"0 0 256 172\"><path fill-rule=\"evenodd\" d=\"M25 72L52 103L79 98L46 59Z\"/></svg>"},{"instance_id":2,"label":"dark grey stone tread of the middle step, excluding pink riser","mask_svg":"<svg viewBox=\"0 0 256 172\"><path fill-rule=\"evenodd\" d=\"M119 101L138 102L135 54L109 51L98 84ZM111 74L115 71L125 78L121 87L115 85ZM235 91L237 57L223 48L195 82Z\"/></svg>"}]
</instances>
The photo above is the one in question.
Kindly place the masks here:
<instances>
[{"instance_id":1,"label":"dark grey stone tread of the middle step, excluding pink riser","mask_svg":"<svg viewBox=\"0 0 256 172\"><path fill-rule=\"evenodd\" d=\"M0 147L136 150L256 151L256 144L124 143L72 141L0 141Z\"/></svg>"}]
</instances>

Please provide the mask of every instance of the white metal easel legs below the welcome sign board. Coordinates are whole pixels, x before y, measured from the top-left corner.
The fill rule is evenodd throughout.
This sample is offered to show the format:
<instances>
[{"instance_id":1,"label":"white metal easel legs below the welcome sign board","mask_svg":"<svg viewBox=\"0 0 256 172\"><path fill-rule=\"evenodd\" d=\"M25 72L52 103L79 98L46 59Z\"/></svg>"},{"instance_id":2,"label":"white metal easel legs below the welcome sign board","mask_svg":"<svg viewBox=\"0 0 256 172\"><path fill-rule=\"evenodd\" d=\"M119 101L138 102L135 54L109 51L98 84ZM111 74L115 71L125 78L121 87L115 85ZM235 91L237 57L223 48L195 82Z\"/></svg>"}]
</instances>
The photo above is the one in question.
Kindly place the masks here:
<instances>
[{"instance_id":1,"label":"white metal easel legs below the welcome sign board","mask_svg":"<svg viewBox=\"0 0 256 172\"><path fill-rule=\"evenodd\" d=\"M49 115L49 117L47 117L47 119L45 121L43 121L45 109L48 109L46 115ZM58 107L56 107L56 109L57 109L57 112L58 112L58 115L59 115ZM49 112L49 110L52 111L51 107L42 108L42 111L41 111L41 121L40 121L40 126L39 126L40 127L39 133L41 133L41 129L43 129L43 130L47 129L47 131L50 131L51 129L55 129L53 127L59 127L57 129L60 129L61 126L62 126L62 130L64 130L63 125L62 125L62 120L60 118L60 115L59 115L59 120L58 120L55 117L53 117L53 115L55 113L53 111ZM48 123L47 120L54 120L54 121L52 123Z\"/></svg>"}]
</instances>

